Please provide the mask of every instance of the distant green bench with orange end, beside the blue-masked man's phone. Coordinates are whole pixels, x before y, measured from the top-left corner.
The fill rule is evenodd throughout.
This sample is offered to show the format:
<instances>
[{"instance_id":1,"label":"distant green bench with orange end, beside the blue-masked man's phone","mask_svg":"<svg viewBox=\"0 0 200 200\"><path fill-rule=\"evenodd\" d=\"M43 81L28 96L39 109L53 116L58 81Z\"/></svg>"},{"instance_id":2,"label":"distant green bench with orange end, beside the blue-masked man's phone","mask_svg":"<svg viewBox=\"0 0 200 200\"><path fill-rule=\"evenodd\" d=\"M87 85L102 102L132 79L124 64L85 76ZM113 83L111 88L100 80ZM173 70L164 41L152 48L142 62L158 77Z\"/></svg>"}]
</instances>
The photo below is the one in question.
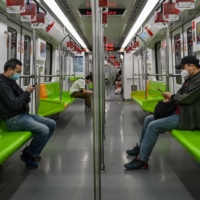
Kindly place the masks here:
<instances>
[{"instance_id":1,"label":"distant green bench with orange end, beside the blue-masked man's phone","mask_svg":"<svg viewBox=\"0 0 200 200\"><path fill-rule=\"evenodd\" d=\"M62 92L62 100L60 100L60 84L59 82L51 82L40 84L40 104L38 114L49 116L62 112L75 101L70 97L67 91Z\"/></svg>"}]
</instances>

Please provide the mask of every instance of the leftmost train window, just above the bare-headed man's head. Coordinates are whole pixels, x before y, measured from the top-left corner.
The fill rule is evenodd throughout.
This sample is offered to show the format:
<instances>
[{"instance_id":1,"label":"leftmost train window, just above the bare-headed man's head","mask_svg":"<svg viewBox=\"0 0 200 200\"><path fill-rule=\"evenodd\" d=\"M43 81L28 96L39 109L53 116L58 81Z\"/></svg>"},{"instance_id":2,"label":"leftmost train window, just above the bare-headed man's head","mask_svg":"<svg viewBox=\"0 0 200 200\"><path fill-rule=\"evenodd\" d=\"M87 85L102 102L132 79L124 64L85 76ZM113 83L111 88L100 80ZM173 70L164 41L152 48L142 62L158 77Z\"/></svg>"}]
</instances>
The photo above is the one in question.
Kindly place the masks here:
<instances>
[{"instance_id":1,"label":"leftmost train window, just above the bare-headed man's head","mask_svg":"<svg viewBox=\"0 0 200 200\"><path fill-rule=\"evenodd\" d=\"M17 58L17 31L11 27L8 27L8 32L11 33L11 52L10 52L10 59ZM7 40L9 45L9 39ZM7 48L7 55L8 55L9 46ZM7 56L8 59L8 56Z\"/></svg>"}]
</instances>

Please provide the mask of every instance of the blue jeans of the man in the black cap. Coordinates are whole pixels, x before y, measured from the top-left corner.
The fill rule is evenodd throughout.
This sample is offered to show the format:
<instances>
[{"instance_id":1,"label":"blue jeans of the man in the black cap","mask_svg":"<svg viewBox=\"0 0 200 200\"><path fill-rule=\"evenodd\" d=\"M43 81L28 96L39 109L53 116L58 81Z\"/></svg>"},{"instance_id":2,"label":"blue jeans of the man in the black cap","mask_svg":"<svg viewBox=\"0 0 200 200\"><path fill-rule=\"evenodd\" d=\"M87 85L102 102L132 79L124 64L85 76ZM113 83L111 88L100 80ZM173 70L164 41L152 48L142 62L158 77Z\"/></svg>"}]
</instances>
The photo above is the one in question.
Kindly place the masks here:
<instances>
[{"instance_id":1,"label":"blue jeans of the man in the black cap","mask_svg":"<svg viewBox=\"0 0 200 200\"><path fill-rule=\"evenodd\" d=\"M153 115L145 118L139 142L140 153L138 157L141 161L147 162L149 160L160 133L178 128L178 120L179 116L175 114L158 120L155 120Z\"/></svg>"}]
</instances>

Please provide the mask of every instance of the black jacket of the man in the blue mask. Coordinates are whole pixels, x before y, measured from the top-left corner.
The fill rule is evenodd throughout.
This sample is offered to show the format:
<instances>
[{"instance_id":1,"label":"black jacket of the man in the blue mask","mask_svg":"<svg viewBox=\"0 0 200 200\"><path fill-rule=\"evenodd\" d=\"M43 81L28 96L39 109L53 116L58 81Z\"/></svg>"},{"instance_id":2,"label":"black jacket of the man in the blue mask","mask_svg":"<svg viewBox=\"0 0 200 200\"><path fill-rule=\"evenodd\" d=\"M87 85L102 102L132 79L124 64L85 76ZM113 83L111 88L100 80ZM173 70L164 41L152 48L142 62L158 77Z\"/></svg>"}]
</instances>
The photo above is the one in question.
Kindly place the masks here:
<instances>
[{"instance_id":1,"label":"black jacket of the man in the blue mask","mask_svg":"<svg viewBox=\"0 0 200 200\"><path fill-rule=\"evenodd\" d=\"M0 74L0 117L11 118L29 112L30 93L23 91L19 85Z\"/></svg>"}]
</instances>

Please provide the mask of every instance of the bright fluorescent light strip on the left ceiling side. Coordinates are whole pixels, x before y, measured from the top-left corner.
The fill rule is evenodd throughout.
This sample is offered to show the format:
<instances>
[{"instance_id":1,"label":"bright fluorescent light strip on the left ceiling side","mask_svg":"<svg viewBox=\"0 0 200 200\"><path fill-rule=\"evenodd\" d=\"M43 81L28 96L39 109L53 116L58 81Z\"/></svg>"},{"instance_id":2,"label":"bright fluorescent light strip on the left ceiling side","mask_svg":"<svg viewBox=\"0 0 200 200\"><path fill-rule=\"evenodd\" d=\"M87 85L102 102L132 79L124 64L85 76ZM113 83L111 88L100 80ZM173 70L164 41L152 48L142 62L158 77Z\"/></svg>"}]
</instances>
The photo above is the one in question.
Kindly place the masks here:
<instances>
[{"instance_id":1,"label":"bright fluorescent light strip on the left ceiling side","mask_svg":"<svg viewBox=\"0 0 200 200\"><path fill-rule=\"evenodd\" d=\"M71 25L67 17L64 15L62 10L59 8L58 4L54 0L43 0L46 5L55 13L55 15L60 19L64 26L70 31L71 35L80 43L80 45L87 49L87 46L80 38L74 27Z\"/></svg>"}]
</instances>

